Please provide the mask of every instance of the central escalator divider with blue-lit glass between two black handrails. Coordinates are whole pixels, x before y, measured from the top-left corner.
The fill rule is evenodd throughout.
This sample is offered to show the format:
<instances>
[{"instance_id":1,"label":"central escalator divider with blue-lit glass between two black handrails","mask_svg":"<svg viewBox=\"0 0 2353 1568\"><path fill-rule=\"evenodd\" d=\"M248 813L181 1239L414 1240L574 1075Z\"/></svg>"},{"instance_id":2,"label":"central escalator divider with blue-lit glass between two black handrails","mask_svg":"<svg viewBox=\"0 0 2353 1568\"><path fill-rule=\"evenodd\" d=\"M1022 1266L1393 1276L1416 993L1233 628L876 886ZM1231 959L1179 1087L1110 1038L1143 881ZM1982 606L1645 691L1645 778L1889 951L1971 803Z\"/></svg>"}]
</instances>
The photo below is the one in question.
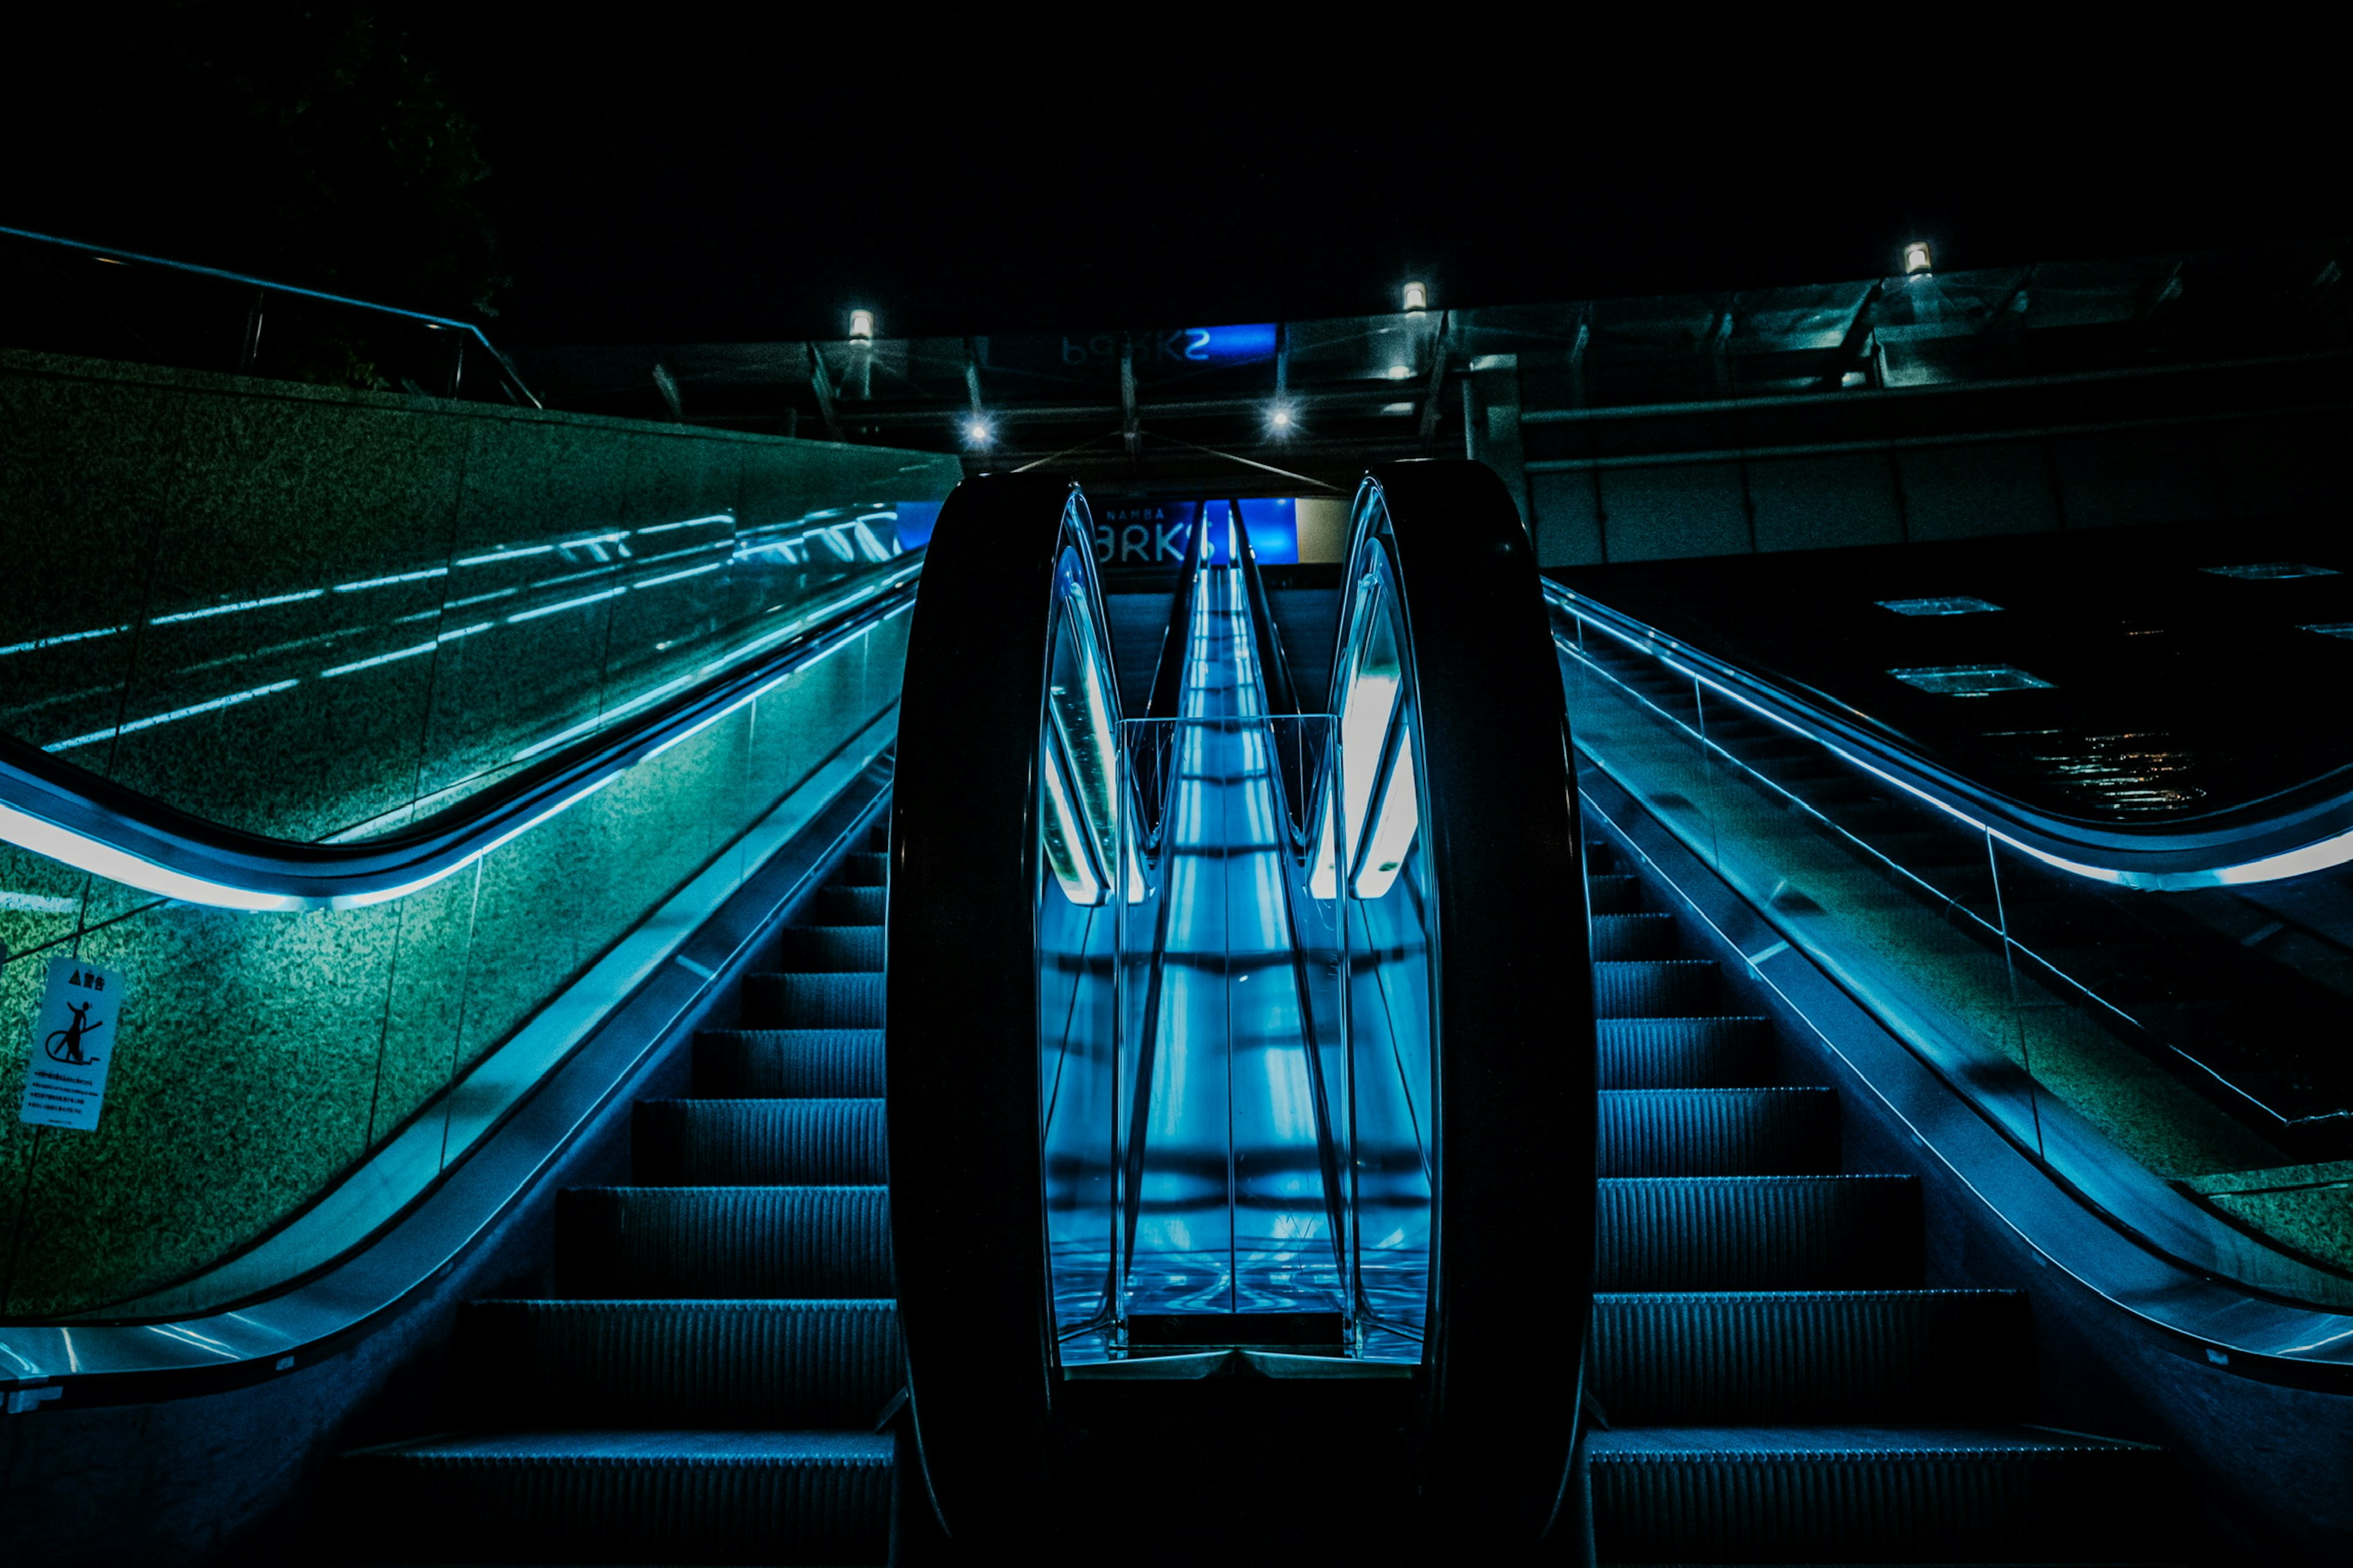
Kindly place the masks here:
<instances>
[{"instance_id":1,"label":"central escalator divider with blue-lit glass between two black handrails","mask_svg":"<svg viewBox=\"0 0 2353 1568\"><path fill-rule=\"evenodd\" d=\"M1167 630L1127 715L1148 614L1106 609L1082 498L972 482L927 559L887 1046L927 1500L974 1552L1160 1493L1193 1500L1176 1556L1529 1549L1593 1178L1555 1157L1588 1147L1591 1034L1525 531L1471 465L1367 482L1337 616L1294 616L1337 628L1308 712L1238 508L1136 597ZM1534 1347L1529 1295L1562 1309ZM1247 1453L1313 1453L1346 1523L1259 1495Z\"/></svg>"}]
</instances>

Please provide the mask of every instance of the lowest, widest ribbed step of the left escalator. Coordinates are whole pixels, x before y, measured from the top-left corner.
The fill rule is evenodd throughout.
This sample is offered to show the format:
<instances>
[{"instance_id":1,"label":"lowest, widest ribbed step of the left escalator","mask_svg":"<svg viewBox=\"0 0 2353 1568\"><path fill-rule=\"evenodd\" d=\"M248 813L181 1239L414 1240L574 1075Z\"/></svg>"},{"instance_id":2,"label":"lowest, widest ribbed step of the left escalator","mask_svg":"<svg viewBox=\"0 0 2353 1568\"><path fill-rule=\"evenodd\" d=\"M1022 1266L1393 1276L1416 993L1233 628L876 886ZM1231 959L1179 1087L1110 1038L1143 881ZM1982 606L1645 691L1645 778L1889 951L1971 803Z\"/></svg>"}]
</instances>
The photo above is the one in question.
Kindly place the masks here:
<instances>
[{"instance_id":1,"label":"lowest, widest ribbed step of the left escalator","mask_svg":"<svg viewBox=\"0 0 2353 1568\"><path fill-rule=\"evenodd\" d=\"M880 1563L875 1432L515 1432L346 1455L381 1549L468 1561Z\"/></svg>"}]
</instances>

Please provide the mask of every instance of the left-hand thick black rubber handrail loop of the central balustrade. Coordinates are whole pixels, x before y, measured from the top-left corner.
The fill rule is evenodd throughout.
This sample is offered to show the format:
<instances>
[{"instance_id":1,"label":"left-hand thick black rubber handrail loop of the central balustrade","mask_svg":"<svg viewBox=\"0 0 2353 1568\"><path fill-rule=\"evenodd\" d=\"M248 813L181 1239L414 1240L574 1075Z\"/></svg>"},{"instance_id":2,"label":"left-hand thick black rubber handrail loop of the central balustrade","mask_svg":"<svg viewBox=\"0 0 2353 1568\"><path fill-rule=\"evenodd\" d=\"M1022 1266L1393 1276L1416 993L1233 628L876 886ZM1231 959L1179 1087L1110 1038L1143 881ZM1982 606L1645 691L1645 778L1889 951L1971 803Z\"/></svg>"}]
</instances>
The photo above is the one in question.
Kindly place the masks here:
<instances>
[{"instance_id":1,"label":"left-hand thick black rubber handrail loop of the central balustrade","mask_svg":"<svg viewBox=\"0 0 2353 1568\"><path fill-rule=\"evenodd\" d=\"M1049 1490L1059 1354L1038 1126L1038 769L1054 581L1075 548L1092 592L1092 538L1064 477L958 484L932 534L899 698L892 1262L925 1481L974 1552L1033 1547L1068 1502ZM1104 625L1099 597L1092 621Z\"/></svg>"}]
</instances>

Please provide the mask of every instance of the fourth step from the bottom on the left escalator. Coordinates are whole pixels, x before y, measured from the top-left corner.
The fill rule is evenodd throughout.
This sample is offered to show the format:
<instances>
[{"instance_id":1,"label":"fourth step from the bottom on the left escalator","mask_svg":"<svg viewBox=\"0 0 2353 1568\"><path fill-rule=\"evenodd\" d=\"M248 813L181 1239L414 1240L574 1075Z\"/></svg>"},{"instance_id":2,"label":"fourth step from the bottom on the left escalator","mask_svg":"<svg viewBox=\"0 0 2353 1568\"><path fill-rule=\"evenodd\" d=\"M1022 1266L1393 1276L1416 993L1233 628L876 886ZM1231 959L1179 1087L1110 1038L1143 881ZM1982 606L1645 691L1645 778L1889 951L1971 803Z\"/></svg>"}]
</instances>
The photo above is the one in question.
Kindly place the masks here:
<instances>
[{"instance_id":1,"label":"fourth step from the bottom on the left escalator","mask_svg":"<svg viewBox=\"0 0 2353 1568\"><path fill-rule=\"evenodd\" d=\"M889 1180L882 1100L638 1100L631 1178L661 1187Z\"/></svg>"}]
</instances>

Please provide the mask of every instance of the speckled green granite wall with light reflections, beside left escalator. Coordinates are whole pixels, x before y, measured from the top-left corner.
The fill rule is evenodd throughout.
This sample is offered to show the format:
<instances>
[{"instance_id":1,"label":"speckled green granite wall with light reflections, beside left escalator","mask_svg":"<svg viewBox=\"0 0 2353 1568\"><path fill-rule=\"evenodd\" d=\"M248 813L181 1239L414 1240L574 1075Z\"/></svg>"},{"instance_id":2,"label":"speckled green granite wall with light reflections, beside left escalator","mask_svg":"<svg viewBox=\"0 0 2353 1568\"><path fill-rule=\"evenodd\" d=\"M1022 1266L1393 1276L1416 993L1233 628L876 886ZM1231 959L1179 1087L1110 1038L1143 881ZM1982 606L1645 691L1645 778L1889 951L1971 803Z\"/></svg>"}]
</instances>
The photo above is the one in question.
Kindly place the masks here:
<instances>
[{"instance_id":1,"label":"speckled green granite wall with light reflections, beside left escalator","mask_svg":"<svg viewBox=\"0 0 2353 1568\"><path fill-rule=\"evenodd\" d=\"M400 827L725 668L882 569L788 552L744 569L746 538L936 501L960 473L12 350L0 435L0 726L94 733L54 755L289 839ZM134 987L99 1131L0 1124L0 1312L188 1279L440 1114L473 1063L896 701L904 646L899 616L367 910L200 910L0 846L0 1105L21 1095L52 954Z\"/></svg>"}]
</instances>

